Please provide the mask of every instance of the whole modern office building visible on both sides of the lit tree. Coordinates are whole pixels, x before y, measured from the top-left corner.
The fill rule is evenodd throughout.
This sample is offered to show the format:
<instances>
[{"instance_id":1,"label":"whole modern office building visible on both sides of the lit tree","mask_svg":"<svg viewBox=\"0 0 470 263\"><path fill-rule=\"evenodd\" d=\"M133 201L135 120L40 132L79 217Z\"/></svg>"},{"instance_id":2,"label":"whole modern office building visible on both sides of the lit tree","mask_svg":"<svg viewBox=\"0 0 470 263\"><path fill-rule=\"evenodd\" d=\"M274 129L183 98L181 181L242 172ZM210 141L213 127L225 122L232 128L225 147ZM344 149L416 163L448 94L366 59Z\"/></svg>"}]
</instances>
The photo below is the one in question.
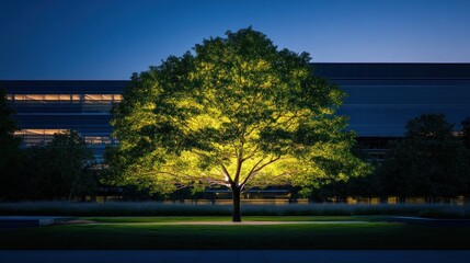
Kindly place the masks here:
<instances>
[{"instance_id":1,"label":"whole modern office building visible on both sides of the lit tree","mask_svg":"<svg viewBox=\"0 0 470 263\"><path fill-rule=\"evenodd\" d=\"M409 119L442 113L455 123L470 116L470 64L313 64L317 75L341 85L348 96L340 114L380 159L390 139L402 137ZM110 110L127 81L0 81L16 111L24 145L50 140L74 129L100 160L111 137Z\"/></svg>"}]
</instances>

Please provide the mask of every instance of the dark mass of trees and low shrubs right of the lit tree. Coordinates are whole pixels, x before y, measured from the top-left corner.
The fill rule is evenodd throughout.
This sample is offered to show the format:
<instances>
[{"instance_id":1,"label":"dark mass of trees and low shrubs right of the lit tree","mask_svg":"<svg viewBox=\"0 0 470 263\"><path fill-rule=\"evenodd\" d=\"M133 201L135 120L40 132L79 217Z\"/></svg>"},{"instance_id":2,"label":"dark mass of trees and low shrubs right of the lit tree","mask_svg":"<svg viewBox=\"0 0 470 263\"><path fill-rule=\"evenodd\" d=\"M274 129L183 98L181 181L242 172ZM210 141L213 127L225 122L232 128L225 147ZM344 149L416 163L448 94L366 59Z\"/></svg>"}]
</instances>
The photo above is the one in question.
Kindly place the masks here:
<instances>
[{"instance_id":1,"label":"dark mass of trees and low shrubs right of the lit tree","mask_svg":"<svg viewBox=\"0 0 470 263\"><path fill-rule=\"evenodd\" d=\"M375 172L348 181L321 185L313 198L347 196L424 197L426 202L448 201L470 194L470 117L460 134L442 114L423 114L408 122L402 139L391 141ZM368 159L362 152L363 159Z\"/></svg>"}]
</instances>

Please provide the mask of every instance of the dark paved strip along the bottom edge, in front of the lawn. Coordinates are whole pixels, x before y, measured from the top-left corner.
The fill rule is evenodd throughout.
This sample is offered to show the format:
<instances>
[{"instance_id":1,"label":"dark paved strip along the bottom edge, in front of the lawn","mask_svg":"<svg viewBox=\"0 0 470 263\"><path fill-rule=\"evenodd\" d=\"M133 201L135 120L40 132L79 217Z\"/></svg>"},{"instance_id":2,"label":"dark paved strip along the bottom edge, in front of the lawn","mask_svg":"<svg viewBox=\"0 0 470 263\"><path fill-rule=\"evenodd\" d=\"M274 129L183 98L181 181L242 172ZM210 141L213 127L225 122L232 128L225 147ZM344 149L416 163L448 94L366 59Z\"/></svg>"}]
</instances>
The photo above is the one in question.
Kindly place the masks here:
<instances>
[{"instance_id":1,"label":"dark paved strip along the bottom edge, in front of the lawn","mask_svg":"<svg viewBox=\"0 0 470 263\"><path fill-rule=\"evenodd\" d=\"M2 251L1 263L468 263L470 251Z\"/></svg>"}]
</instances>

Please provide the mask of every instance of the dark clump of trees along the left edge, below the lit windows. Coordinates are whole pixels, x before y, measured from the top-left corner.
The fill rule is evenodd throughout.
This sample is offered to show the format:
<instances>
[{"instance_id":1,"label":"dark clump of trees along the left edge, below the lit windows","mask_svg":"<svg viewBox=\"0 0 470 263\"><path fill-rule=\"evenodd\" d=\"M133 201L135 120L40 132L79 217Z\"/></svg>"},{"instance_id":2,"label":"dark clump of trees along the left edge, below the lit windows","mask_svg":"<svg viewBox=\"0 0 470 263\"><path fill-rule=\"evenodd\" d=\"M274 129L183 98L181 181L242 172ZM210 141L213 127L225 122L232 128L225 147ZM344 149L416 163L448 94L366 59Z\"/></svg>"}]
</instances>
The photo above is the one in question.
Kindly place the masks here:
<instances>
[{"instance_id":1,"label":"dark clump of trees along the left edge, below the lit windows","mask_svg":"<svg viewBox=\"0 0 470 263\"><path fill-rule=\"evenodd\" d=\"M50 142L20 148L13 110L0 90L0 201L72 199L96 188L94 157L77 132Z\"/></svg>"}]
</instances>

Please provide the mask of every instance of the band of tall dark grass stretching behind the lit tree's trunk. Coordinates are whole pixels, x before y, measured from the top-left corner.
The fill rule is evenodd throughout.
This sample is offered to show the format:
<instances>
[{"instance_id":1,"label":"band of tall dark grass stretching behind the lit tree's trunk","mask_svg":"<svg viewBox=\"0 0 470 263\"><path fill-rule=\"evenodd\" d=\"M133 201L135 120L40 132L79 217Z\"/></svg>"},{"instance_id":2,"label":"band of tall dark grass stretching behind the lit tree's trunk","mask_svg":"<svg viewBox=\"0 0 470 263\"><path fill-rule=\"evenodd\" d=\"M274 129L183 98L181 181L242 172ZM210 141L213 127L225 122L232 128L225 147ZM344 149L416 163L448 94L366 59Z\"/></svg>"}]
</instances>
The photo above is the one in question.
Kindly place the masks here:
<instances>
[{"instance_id":1,"label":"band of tall dark grass stretching behind the lit tree's trunk","mask_svg":"<svg viewBox=\"0 0 470 263\"><path fill-rule=\"evenodd\" d=\"M142 203L69 203L22 202L0 203L0 215L36 216L231 216L231 205L194 205ZM358 216L396 215L434 218L470 218L470 206L452 205L346 205L346 204L290 204L250 205L242 204L244 216Z\"/></svg>"}]
</instances>

